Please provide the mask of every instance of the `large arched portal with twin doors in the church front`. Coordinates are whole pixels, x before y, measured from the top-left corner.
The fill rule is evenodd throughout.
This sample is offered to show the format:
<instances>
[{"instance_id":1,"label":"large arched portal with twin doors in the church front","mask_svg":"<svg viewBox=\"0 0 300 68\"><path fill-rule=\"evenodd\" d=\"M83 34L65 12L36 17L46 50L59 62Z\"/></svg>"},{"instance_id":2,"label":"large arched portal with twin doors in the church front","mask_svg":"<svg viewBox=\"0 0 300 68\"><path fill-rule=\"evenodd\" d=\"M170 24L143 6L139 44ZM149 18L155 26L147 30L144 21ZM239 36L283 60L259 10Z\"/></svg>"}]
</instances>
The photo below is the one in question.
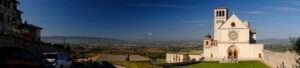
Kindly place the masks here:
<instances>
[{"instance_id":1,"label":"large arched portal with twin doors in the church front","mask_svg":"<svg viewBox=\"0 0 300 68\"><path fill-rule=\"evenodd\" d=\"M227 51L228 58L238 58L239 57L239 50L236 46L232 45L228 48Z\"/></svg>"}]
</instances>

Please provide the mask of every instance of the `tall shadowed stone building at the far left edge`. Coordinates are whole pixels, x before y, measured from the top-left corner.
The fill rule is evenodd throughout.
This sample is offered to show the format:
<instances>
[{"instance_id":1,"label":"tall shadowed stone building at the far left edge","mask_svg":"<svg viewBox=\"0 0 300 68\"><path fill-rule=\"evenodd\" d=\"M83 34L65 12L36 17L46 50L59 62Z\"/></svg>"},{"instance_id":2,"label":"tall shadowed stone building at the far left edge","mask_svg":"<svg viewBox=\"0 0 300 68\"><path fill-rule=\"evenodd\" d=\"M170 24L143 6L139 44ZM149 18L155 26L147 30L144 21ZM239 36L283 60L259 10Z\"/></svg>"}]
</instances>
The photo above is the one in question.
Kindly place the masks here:
<instances>
[{"instance_id":1,"label":"tall shadowed stone building at the far left edge","mask_svg":"<svg viewBox=\"0 0 300 68\"><path fill-rule=\"evenodd\" d=\"M16 0L0 0L0 33L12 34L22 24L22 11L17 9Z\"/></svg>"}]
</instances>

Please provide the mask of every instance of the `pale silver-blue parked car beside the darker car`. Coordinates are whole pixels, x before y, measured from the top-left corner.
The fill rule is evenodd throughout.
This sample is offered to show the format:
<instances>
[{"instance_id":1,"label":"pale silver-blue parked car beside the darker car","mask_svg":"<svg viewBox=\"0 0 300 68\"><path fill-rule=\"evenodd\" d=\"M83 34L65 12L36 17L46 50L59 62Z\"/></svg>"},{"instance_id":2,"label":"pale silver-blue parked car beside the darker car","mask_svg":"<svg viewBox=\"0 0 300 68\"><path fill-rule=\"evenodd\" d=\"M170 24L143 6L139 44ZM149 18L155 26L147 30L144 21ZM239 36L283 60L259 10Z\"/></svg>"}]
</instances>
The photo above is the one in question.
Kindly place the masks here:
<instances>
[{"instance_id":1,"label":"pale silver-blue parked car beside the darker car","mask_svg":"<svg viewBox=\"0 0 300 68\"><path fill-rule=\"evenodd\" d=\"M63 53L43 53L42 62L48 68L71 68L72 60Z\"/></svg>"}]
</instances>

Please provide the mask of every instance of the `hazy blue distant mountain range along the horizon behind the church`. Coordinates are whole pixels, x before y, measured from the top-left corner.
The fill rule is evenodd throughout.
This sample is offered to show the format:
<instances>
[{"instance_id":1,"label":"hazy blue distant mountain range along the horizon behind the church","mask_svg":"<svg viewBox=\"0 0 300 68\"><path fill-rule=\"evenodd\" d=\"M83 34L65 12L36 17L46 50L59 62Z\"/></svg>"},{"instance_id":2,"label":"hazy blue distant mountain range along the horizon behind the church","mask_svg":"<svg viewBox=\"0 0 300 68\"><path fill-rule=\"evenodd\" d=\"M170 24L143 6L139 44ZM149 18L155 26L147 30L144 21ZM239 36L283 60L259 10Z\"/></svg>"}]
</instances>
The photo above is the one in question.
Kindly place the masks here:
<instances>
[{"instance_id":1,"label":"hazy blue distant mountain range along the horizon behind the church","mask_svg":"<svg viewBox=\"0 0 300 68\"><path fill-rule=\"evenodd\" d=\"M64 39L66 43L71 44L92 44L92 45L102 45L102 44L131 44L131 45L178 45L178 46L201 46L202 41L131 41L131 40L120 40L112 38L103 37L87 37L87 36L45 36L42 37L43 41L63 44ZM200 43L201 42L201 43ZM289 45L289 39L263 39L257 40L257 43L263 43L265 46L286 46Z\"/></svg>"}]
</instances>

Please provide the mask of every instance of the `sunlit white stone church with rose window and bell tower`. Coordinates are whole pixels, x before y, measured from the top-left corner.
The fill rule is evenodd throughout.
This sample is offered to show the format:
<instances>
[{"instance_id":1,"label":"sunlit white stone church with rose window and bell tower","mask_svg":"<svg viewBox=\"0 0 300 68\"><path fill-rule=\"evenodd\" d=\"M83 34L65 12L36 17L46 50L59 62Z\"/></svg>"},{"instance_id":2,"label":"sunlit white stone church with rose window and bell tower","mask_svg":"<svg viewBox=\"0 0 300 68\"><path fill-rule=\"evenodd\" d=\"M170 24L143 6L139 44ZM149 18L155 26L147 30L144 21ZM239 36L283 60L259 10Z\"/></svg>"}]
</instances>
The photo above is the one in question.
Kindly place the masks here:
<instances>
[{"instance_id":1,"label":"sunlit white stone church with rose window and bell tower","mask_svg":"<svg viewBox=\"0 0 300 68\"><path fill-rule=\"evenodd\" d=\"M227 8L214 9L213 35L208 33L203 40L206 61L263 59L264 45L256 44L256 29L250 29L250 22L241 21L234 13L228 17Z\"/></svg>"}]
</instances>

